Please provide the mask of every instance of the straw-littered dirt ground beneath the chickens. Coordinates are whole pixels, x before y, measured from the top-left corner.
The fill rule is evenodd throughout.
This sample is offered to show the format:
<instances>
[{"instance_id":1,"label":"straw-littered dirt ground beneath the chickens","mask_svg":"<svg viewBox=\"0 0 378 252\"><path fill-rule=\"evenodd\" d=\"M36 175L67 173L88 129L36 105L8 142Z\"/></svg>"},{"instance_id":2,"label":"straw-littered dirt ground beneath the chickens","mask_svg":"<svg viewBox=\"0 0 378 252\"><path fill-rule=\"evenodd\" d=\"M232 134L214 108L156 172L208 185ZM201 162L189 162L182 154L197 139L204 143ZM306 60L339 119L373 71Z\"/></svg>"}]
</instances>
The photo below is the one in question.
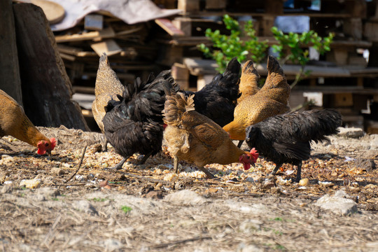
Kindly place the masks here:
<instances>
[{"instance_id":1,"label":"straw-littered dirt ground beneath the chickens","mask_svg":"<svg viewBox=\"0 0 378 252\"><path fill-rule=\"evenodd\" d=\"M173 174L166 151L108 171L121 158L101 152L102 134L41 131L58 139L51 157L0 139L0 251L378 251L378 135L313 144L301 186L263 158L209 165L215 180L185 162ZM314 204L338 190L356 214Z\"/></svg>"}]
</instances>

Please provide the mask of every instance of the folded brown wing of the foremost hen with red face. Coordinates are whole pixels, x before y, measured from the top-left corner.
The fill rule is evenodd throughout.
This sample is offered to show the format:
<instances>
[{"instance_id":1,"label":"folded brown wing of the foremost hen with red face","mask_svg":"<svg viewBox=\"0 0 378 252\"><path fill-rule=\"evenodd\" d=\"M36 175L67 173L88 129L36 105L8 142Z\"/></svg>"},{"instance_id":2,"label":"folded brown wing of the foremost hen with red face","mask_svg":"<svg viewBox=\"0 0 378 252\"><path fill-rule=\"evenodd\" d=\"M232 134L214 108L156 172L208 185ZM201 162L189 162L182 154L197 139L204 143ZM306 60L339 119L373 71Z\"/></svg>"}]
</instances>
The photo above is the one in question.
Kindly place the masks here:
<instances>
[{"instance_id":1,"label":"folded brown wing of the foremost hen with red face","mask_svg":"<svg viewBox=\"0 0 378 252\"><path fill-rule=\"evenodd\" d=\"M218 148L230 138L221 126L197 111L184 113L181 127L210 149Z\"/></svg>"}]
</instances>

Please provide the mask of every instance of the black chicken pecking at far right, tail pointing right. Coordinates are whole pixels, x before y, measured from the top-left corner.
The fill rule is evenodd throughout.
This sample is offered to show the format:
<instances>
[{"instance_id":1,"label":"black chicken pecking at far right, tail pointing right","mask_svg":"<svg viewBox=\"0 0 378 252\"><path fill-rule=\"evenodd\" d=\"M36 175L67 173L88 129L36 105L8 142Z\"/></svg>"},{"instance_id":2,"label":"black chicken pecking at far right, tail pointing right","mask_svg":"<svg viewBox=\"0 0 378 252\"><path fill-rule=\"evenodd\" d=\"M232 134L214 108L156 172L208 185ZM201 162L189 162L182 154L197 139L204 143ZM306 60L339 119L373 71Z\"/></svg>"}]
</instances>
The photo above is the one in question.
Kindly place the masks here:
<instances>
[{"instance_id":1,"label":"black chicken pecking at far right, tail pointing right","mask_svg":"<svg viewBox=\"0 0 378 252\"><path fill-rule=\"evenodd\" d=\"M342 116L335 109L285 113L272 116L246 128L246 143L267 160L276 163L272 174L284 163L297 166L300 181L302 160L309 159L310 142L327 140L342 125Z\"/></svg>"}]
</instances>

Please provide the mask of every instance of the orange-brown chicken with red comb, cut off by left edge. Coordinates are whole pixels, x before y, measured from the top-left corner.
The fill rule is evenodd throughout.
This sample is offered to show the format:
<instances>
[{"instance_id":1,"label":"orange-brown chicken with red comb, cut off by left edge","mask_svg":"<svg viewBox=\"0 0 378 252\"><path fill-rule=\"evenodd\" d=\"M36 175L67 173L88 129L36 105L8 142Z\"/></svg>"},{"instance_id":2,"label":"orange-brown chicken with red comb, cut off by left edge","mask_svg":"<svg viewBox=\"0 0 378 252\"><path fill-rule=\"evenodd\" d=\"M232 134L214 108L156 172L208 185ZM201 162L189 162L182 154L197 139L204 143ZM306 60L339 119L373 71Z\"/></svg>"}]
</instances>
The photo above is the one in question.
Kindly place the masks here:
<instances>
[{"instance_id":1,"label":"orange-brown chicken with red comb, cut off by left edge","mask_svg":"<svg viewBox=\"0 0 378 252\"><path fill-rule=\"evenodd\" d=\"M55 138L48 139L31 123L24 109L15 99L0 90L0 138L12 136L38 148L38 154L43 155L55 148Z\"/></svg>"}]
</instances>

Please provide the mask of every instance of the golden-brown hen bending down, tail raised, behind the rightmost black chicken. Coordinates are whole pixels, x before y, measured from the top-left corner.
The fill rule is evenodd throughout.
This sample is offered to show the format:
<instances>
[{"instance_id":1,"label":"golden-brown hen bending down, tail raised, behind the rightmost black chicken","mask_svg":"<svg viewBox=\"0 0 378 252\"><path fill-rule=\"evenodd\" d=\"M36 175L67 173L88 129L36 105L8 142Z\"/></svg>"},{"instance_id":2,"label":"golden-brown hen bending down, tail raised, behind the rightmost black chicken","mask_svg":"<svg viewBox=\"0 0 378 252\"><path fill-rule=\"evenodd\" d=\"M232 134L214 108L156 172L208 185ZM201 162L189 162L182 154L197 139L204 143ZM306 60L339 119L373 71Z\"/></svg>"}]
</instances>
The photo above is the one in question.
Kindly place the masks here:
<instances>
[{"instance_id":1,"label":"golden-brown hen bending down, tail raised, behind the rightmost black chicken","mask_svg":"<svg viewBox=\"0 0 378 252\"><path fill-rule=\"evenodd\" d=\"M253 64L250 66L252 69ZM272 56L268 57L267 70L268 76L265 85L257 93L245 97L237 104L234 120L223 127L223 130L230 134L231 139L244 140L246 127L249 125L289 111L290 86L279 62ZM252 70L252 72L254 71Z\"/></svg>"}]
</instances>

